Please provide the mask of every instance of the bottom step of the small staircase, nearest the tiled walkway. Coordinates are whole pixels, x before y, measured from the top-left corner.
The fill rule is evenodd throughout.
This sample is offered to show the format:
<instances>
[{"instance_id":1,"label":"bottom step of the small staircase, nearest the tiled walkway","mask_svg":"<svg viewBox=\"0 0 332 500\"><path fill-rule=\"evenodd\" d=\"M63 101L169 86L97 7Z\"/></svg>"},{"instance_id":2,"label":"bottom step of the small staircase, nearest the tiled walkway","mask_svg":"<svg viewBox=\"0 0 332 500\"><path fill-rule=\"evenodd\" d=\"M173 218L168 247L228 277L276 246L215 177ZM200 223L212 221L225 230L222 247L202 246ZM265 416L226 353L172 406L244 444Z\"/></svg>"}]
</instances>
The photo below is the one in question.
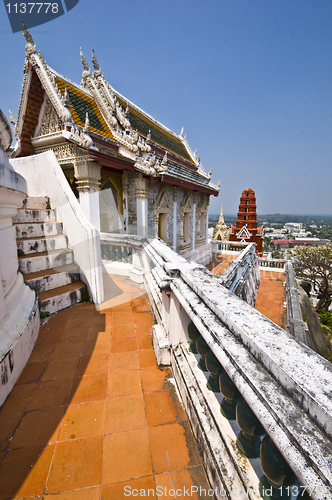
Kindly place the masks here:
<instances>
[{"instance_id":1,"label":"bottom step of the small staircase, nearest the tiled walkway","mask_svg":"<svg viewBox=\"0 0 332 500\"><path fill-rule=\"evenodd\" d=\"M81 302L86 285L81 281L39 294L39 310L53 314Z\"/></svg>"}]
</instances>

